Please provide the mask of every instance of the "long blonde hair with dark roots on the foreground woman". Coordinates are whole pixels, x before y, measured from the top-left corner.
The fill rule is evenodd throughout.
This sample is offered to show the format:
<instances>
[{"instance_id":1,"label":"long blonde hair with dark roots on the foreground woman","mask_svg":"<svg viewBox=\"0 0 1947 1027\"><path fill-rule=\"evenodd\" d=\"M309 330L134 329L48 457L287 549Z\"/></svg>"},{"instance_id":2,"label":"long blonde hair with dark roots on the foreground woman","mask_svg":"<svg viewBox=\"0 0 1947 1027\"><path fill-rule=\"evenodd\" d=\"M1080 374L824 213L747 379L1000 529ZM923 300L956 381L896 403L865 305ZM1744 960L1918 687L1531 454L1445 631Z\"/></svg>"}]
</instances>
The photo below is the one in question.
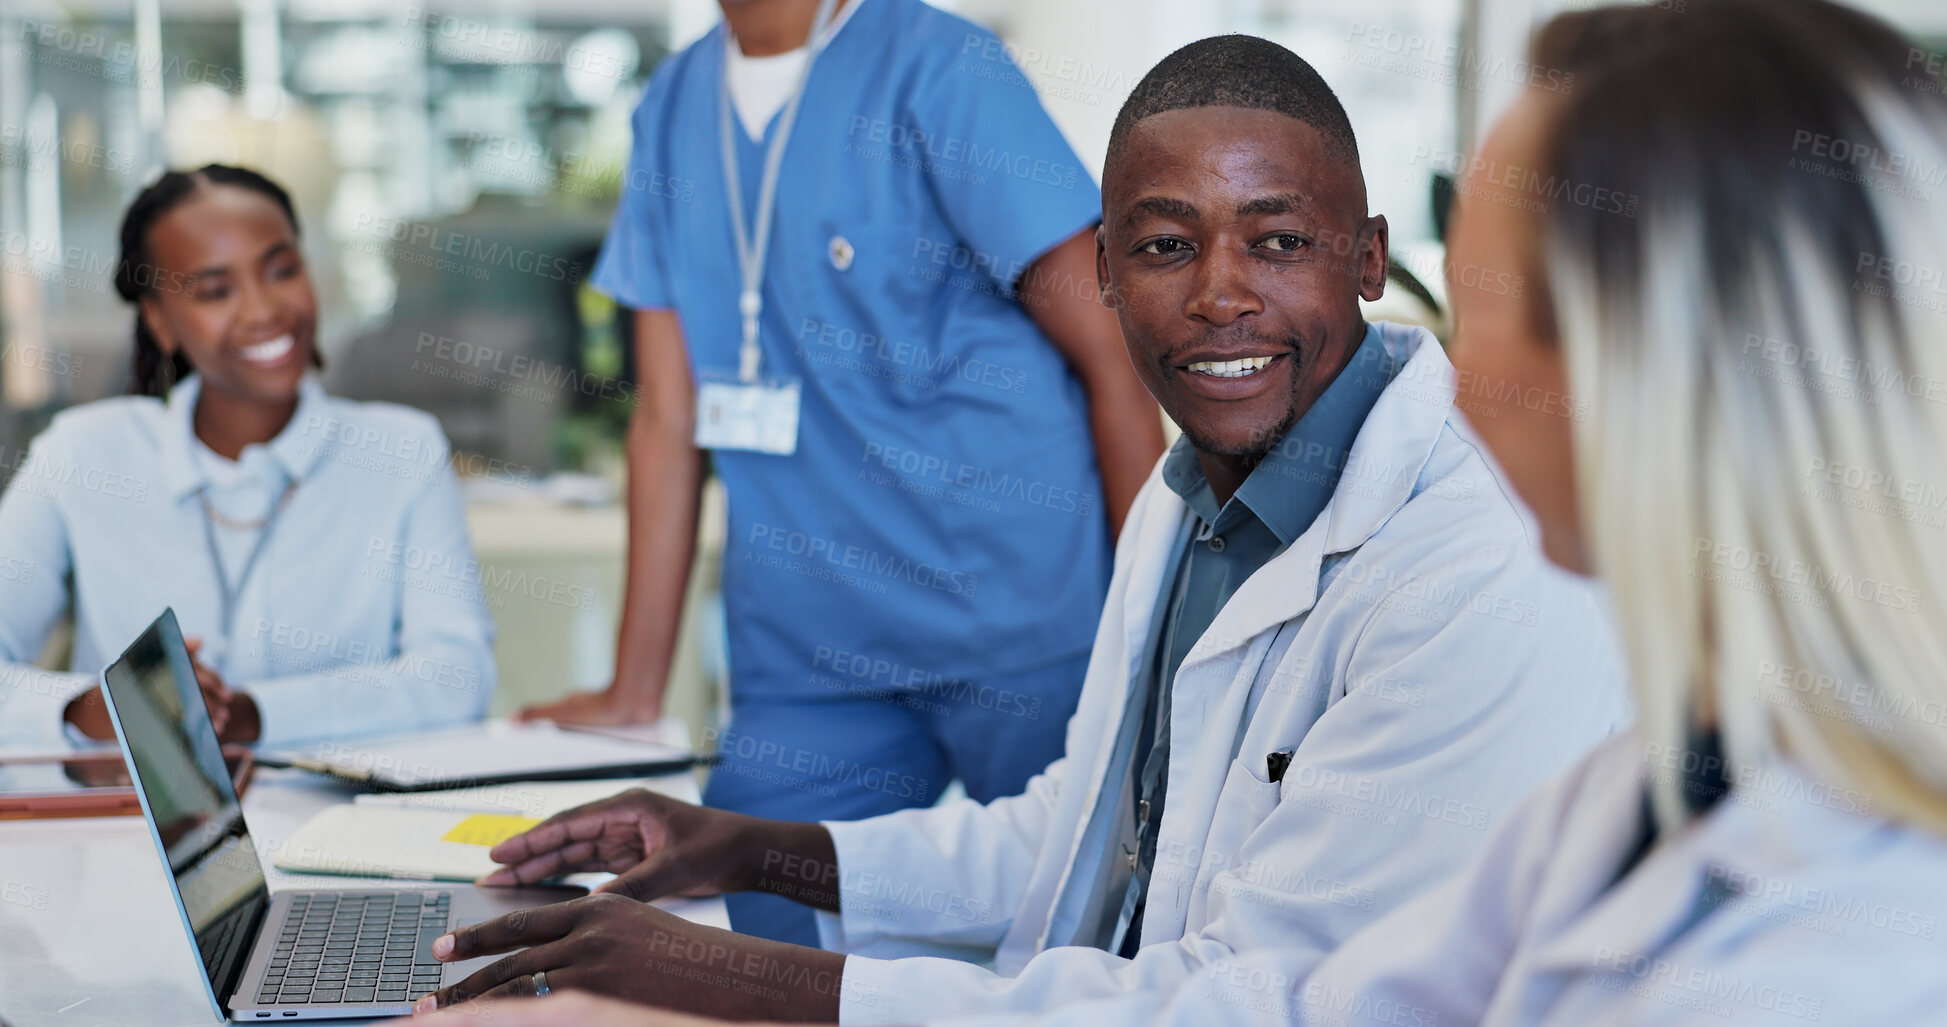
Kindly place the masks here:
<instances>
[{"instance_id":1,"label":"long blonde hair with dark roots on the foreground woman","mask_svg":"<svg viewBox=\"0 0 1947 1027\"><path fill-rule=\"evenodd\" d=\"M1941 58L1824 0L1579 12L1532 58L1573 74L1538 314L1659 820L1715 725L1746 801L1947 834Z\"/></svg>"}]
</instances>

